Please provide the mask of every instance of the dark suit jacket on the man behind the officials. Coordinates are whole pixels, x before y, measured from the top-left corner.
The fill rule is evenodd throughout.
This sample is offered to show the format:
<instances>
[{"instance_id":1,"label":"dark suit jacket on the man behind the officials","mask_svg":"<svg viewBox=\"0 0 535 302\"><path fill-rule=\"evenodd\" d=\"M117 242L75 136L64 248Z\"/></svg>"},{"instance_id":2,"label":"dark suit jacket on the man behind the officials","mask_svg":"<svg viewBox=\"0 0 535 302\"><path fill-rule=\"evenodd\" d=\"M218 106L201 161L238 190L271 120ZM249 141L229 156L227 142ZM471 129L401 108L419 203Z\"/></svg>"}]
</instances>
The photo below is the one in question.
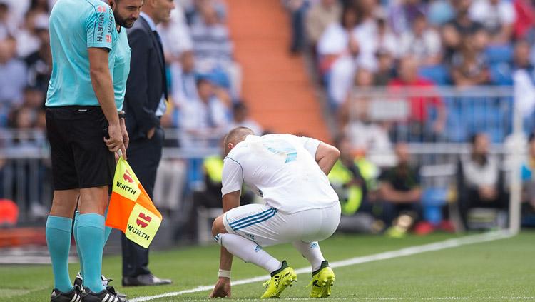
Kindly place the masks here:
<instances>
[{"instance_id":1,"label":"dark suit jacket on the man behind the officials","mask_svg":"<svg viewBox=\"0 0 535 302\"><path fill-rule=\"evenodd\" d=\"M132 58L123 110L128 135L135 140L160 124L156 110L162 94L167 94L165 61L161 44L143 17L128 29L128 44Z\"/></svg>"}]
</instances>

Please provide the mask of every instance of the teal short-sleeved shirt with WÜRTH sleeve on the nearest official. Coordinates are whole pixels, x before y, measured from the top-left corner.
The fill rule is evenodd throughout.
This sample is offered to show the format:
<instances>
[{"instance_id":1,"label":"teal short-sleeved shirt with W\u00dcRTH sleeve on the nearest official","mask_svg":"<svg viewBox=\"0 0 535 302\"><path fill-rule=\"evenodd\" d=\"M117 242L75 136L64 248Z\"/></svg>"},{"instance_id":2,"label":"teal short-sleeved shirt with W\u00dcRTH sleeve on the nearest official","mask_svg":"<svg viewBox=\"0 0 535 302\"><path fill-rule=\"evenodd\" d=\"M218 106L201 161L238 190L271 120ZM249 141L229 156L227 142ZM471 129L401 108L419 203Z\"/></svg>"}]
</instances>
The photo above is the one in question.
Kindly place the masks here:
<instances>
[{"instance_id":1,"label":"teal short-sleeved shirt with W\u00dcRTH sleeve on the nearest official","mask_svg":"<svg viewBox=\"0 0 535 302\"><path fill-rule=\"evenodd\" d=\"M88 49L108 49L114 76L118 33L110 6L101 0L59 0L49 31L52 75L46 106L100 106L91 86Z\"/></svg>"}]
</instances>

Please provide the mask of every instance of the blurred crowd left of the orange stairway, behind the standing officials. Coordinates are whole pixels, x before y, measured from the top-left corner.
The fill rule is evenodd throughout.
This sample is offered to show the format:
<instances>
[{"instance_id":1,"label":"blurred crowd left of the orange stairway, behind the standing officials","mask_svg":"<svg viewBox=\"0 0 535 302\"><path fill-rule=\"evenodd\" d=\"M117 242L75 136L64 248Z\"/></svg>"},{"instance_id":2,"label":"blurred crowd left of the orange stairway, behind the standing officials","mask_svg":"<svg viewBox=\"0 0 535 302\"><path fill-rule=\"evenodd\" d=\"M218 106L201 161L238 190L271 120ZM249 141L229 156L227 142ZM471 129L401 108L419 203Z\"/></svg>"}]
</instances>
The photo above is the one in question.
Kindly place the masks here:
<instances>
[{"instance_id":1,"label":"blurred crowd left of the orange stairway, behind the standing officials","mask_svg":"<svg viewBox=\"0 0 535 302\"><path fill-rule=\"evenodd\" d=\"M11 157L21 154L23 146L38 153L48 146L44 137L44 101L52 70L48 28L56 1L0 0L0 147L14 147ZM156 196L165 200L162 203L168 210L179 206L185 191L203 190L204 157L219 148L223 134L235 126L263 134L240 96L241 71L233 57L225 1L176 0L176 4L170 21L158 26L170 89L168 111L161 123L166 129L177 129L169 132L166 146L180 147L180 154L188 160L165 159L161 165L159 178L185 182L185 188L168 190L160 181ZM0 194L17 196L31 216L44 216L42 204L47 198L31 196L36 188L31 188L29 177L23 177L25 181L15 177L39 170L41 176L35 183L47 186L49 178L44 175L49 163L31 162L31 170L19 172L16 160L0 158Z\"/></svg>"}]
</instances>

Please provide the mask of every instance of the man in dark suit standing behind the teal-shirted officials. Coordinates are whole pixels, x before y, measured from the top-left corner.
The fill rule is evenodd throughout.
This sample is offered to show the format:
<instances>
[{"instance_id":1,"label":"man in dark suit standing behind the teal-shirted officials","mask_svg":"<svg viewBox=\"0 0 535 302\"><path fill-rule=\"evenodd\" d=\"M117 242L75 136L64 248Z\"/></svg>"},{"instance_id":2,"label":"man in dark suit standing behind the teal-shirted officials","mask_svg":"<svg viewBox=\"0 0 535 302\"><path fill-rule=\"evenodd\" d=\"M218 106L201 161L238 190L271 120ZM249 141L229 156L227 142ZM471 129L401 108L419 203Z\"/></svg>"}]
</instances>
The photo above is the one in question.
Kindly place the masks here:
<instances>
[{"instance_id":1,"label":"man in dark suit standing behind the teal-shirted officials","mask_svg":"<svg viewBox=\"0 0 535 302\"><path fill-rule=\"evenodd\" d=\"M132 49L131 71L126 84L124 111L130 134L128 162L148 195L153 197L156 170L162 156L163 129L160 118L168 97L165 58L156 25L170 19L173 0L145 0L138 22L128 30ZM148 269L148 249L122 235L123 286L171 283Z\"/></svg>"}]
</instances>

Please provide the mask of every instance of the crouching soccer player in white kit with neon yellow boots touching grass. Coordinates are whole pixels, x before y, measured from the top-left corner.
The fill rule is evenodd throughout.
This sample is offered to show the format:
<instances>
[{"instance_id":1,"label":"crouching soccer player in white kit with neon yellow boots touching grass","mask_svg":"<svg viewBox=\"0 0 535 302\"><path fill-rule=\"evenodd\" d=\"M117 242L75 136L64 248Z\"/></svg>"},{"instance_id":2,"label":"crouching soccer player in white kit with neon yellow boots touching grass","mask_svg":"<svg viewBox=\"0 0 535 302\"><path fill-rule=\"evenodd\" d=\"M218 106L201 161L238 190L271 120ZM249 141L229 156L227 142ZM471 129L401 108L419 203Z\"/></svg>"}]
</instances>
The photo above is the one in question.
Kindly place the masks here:
<instances>
[{"instance_id":1,"label":"crouching soccer player in white kit with neon yellow boots touching grass","mask_svg":"<svg viewBox=\"0 0 535 302\"><path fill-rule=\"evenodd\" d=\"M255 136L245 127L225 137L223 215L212 233L221 248L219 279L211 298L230 297L233 255L271 274L261 298L279 297L297 280L286 261L261 247L292 243L312 266L311 297L330 296L335 273L317 241L329 238L340 222L340 202L327 174L340 151L316 139L290 134ZM240 206L243 183L265 204Z\"/></svg>"}]
</instances>

